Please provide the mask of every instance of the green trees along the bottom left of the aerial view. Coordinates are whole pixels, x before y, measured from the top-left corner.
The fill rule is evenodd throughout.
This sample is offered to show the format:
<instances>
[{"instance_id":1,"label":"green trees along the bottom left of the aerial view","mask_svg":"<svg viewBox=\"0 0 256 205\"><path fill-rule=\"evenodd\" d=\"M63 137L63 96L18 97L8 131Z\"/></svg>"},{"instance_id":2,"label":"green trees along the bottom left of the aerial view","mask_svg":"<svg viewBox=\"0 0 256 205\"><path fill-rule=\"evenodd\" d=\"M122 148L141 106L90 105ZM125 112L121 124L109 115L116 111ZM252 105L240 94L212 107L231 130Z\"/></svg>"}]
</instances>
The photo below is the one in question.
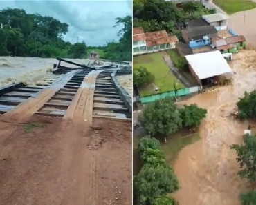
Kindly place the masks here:
<instances>
[{"instance_id":1,"label":"green trees along the bottom left of the aerial view","mask_svg":"<svg viewBox=\"0 0 256 205\"><path fill-rule=\"evenodd\" d=\"M160 142L154 137L143 137L138 146L143 167L134 177L134 203L136 205L176 205L167 197L179 189L179 182L172 167L165 162Z\"/></svg>"}]
</instances>

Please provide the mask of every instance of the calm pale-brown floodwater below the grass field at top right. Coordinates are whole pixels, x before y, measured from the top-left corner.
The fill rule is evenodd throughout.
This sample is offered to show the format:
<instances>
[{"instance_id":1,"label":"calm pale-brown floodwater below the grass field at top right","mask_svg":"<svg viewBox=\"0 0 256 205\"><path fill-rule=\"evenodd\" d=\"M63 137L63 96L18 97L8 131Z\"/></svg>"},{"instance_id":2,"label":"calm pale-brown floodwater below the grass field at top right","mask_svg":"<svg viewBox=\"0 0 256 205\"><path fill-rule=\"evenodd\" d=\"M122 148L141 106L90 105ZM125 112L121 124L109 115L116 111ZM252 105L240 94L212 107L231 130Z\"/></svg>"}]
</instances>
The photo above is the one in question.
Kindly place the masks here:
<instances>
[{"instance_id":1,"label":"calm pale-brown floodwater below the grass field at top right","mask_svg":"<svg viewBox=\"0 0 256 205\"><path fill-rule=\"evenodd\" d=\"M245 12L237 12L230 15L229 27L235 30L237 34L244 35L246 37L247 43L256 46L256 8L253 10L247 10Z\"/></svg>"}]
</instances>

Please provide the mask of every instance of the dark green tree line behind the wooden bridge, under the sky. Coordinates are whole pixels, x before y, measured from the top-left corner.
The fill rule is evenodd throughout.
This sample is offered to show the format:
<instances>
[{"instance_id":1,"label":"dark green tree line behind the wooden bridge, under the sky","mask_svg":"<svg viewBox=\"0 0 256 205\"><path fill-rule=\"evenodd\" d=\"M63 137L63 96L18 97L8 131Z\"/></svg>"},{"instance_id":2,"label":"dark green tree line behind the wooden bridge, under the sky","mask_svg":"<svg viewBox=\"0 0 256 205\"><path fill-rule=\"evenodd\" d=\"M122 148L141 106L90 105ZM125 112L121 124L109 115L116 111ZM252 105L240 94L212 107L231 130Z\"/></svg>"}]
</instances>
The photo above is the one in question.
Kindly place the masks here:
<instances>
[{"instance_id":1,"label":"dark green tree line behind the wooden bridge, under the sky","mask_svg":"<svg viewBox=\"0 0 256 205\"><path fill-rule=\"evenodd\" d=\"M123 26L118 33L120 40L90 47L85 42L72 44L62 39L68 32L67 23L7 8L0 11L0 55L84 58L95 50L100 58L131 61L131 24L130 16L116 19L114 26Z\"/></svg>"}]
</instances>

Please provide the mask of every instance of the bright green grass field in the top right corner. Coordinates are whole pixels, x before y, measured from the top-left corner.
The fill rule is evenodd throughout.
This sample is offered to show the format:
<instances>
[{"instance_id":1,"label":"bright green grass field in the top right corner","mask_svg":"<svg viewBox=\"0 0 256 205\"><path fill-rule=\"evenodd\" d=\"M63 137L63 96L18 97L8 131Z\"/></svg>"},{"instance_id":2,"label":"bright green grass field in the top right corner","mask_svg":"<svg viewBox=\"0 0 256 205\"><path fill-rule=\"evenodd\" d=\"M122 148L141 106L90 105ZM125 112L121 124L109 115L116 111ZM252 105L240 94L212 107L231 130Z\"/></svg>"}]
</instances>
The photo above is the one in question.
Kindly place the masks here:
<instances>
[{"instance_id":1,"label":"bright green grass field in the top right corner","mask_svg":"<svg viewBox=\"0 0 256 205\"><path fill-rule=\"evenodd\" d=\"M256 3L249 0L213 0L213 2L222 8L227 14L250 10L256 8Z\"/></svg>"}]
</instances>

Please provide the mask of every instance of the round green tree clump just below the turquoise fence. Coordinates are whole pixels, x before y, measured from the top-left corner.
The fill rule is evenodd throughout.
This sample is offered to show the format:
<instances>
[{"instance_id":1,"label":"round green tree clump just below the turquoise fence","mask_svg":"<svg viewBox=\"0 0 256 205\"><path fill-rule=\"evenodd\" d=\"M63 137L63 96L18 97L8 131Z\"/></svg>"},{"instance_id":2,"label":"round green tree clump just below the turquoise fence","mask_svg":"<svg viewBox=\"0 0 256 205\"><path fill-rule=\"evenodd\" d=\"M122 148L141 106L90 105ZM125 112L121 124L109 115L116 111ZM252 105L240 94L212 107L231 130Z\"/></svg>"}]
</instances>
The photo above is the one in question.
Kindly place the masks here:
<instances>
[{"instance_id":1,"label":"round green tree clump just below the turquoise fence","mask_svg":"<svg viewBox=\"0 0 256 205\"><path fill-rule=\"evenodd\" d=\"M195 128L206 117L207 110L196 104L178 109L172 99L161 99L146 106L140 122L149 135L170 135L181 128Z\"/></svg>"}]
</instances>

